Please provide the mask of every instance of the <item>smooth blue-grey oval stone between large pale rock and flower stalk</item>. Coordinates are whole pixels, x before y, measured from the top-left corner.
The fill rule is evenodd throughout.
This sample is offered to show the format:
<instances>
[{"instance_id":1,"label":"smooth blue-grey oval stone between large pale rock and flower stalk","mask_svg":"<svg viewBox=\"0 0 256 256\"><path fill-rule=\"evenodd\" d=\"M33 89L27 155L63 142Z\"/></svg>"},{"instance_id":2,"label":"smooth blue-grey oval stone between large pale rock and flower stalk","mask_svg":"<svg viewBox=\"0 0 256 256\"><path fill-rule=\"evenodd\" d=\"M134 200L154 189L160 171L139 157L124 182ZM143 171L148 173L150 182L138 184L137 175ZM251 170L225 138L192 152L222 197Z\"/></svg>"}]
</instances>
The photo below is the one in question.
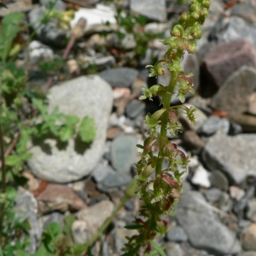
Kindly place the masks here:
<instances>
[{"instance_id":1,"label":"smooth blue-grey oval stone between large pale rock and flower stalk","mask_svg":"<svg viewBox=\"0 0 256 256\"><path fill-rule=\"evenodd\" d=\"M131 165L137 162L137 137L120 135L111 145L112 166L118 172L130 172Z\"/></svg>"}]
</instances>

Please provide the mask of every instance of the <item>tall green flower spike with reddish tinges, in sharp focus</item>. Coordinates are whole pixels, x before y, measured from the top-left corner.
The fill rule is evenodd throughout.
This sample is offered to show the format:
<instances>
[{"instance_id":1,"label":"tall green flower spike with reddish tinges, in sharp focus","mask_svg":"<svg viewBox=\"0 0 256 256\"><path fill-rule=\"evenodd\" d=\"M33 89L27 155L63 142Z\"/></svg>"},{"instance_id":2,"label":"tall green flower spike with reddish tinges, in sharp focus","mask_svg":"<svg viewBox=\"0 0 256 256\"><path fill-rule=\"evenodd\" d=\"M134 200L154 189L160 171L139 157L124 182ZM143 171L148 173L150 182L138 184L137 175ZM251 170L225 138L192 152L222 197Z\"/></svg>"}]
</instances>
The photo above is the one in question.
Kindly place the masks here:
<instances>
[{"instance_id":1,"label":"tall green flower spike with reddish tinges, in sharp focus","mask_svg":"<svg viewBox=\"0 0 256 256\"><path fill-rule=\"evenodd\" d=\"M138 235L127 238L124 251L128 253L123 255L139 255L142 248L145 255L152 247L155 248L154 237L157 234L164 235L167 230L163 216L173 214L175 210L177 199L173 192L183 189L181 177L189 163L189 156L167 138L167 131L172 136L177 136L177 133L182 131L182 125L177 118L179 109L195 123L195 109L170 105L175 90L181 102L185 101L188 92L194 92L190 79L193 74L185 74L180 62L185 52L195 53L196 39L201 38L201 25L206 20L209 7L209 0L191 0L189 13L181 15L178 24L172 28L172 37L162 42L169 46L165 59L157 61L154 66L147 66L150 67L150 77L163 75L166 66L171 73L171 79L166 86L155 84L149 89L143 86L144 94L140 99L152 100L154 96L160 96L162 108L153 114L147 114L145 122L148 126L148 138L143 145L138 145L142 153L141 160L137 163L136 178L143 207L134 224L127 226L128 229L137 230ZM154 154L154 148L159 149L158 155ZM165 167L164 161L167 163ZM183 172L179 171L180 169L183 169Z\"/></svg>"}]
</instances>

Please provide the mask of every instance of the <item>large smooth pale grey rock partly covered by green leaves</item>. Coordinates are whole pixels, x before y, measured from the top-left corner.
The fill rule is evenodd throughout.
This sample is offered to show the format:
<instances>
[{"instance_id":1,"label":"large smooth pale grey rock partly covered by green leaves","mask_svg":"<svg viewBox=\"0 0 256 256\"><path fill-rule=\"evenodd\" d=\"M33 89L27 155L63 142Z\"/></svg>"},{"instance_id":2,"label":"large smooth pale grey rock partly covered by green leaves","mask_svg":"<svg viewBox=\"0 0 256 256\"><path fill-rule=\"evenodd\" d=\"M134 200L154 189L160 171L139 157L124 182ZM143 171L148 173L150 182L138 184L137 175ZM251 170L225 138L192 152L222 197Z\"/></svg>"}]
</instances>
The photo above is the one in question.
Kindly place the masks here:
<instances>
[{"instance_id":1,"label":"large smooth pale grey rock partly covered by green leaves","mask_svg":"<svg viewBox=\"0 0 256 256\"><path fill-rule=\"evenodd\" d=\"M82 76L53 87L49 91L49 112L59 107L61 113L77 115L80 119L90 116L96 122L96 138L90 148L84 148L74 138L62 148L55 139L42 138L37 144L30 145L32 158L28 164L32 172L57 183L88 175L104 153L112 102L110 85L98 76Z\"/></svg>"}]
</instances>

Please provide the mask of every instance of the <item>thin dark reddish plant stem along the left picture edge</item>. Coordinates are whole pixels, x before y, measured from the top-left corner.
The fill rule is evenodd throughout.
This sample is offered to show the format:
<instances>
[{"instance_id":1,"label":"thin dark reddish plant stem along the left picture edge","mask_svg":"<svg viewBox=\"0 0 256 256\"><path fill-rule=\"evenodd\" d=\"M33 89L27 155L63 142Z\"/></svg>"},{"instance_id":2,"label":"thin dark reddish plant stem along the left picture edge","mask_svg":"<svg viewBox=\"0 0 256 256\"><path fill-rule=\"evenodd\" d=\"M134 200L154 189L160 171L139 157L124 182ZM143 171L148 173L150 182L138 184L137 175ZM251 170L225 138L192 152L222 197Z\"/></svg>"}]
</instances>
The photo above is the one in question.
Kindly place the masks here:
<instances>
[{"instance_id":1,"label":"thin dark reddish plant stem along the left picture edge","mask_svg":"<svg viewBox=\"0 0 256 256\"><path fill-rule=\"evenodd\" d=\"M1 160L2 160L2 191L4 195L6 192L6 170L5 170L5 161L4 161L4 146L3 146L3 129L0 121L0 151L1 151ZM5 202L1 202L0 205L0 246L2 246L2 234L3 234L3 212L5 208Z\"/></svg>"}]
</instances>

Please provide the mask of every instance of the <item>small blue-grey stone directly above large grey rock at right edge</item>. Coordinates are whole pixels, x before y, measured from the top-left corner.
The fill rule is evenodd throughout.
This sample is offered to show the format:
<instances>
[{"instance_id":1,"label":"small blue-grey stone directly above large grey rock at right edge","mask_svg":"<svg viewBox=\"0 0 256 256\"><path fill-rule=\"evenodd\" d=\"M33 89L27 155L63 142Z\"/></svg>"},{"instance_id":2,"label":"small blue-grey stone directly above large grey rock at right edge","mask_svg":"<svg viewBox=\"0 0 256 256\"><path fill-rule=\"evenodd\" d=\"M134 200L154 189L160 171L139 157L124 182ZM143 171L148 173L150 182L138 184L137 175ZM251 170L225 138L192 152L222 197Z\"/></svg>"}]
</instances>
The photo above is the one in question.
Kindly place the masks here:
<instances>
[{"instance_id":1,"label":"small blue-grey stone directly above large grey rock at right edge","mask_svg":"<svg viewBox=\"0 0 256 256\"><path fill-rule=\"evenodd\" d=\"M216 131L223 131L225 134L228 134L230 131L229 120L212 115L197 130L199 134L207 137L212 136Z\"/></svg>"}]
</instances>

